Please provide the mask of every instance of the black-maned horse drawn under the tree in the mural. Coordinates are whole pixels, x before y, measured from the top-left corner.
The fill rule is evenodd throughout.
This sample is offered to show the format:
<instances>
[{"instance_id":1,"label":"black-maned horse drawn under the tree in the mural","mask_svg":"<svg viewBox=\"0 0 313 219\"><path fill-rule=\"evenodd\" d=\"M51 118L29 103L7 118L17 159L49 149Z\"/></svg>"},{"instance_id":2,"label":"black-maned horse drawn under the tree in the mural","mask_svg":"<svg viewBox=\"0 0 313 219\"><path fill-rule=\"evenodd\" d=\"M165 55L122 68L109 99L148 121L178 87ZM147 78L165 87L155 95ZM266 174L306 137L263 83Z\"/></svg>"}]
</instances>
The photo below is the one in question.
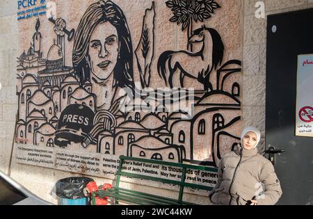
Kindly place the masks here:
<instances>
[{"instance_id":1,"label":"black-maned horse drawn under the tree in the mural","mask_svg":"<svg viewBox=\"0 0 313 219\"><path fill-rule=\"evenodd\" d=\"M200 51L163 52L157 65L159 76L170 88L184 87L184 77L188 76L197 79L204 86L204 90L213 90L209 76L223 61L224 44L218 32L206 26L193 31L188 44L193 43L202 43Z\"/></svg>"}]
</instances>

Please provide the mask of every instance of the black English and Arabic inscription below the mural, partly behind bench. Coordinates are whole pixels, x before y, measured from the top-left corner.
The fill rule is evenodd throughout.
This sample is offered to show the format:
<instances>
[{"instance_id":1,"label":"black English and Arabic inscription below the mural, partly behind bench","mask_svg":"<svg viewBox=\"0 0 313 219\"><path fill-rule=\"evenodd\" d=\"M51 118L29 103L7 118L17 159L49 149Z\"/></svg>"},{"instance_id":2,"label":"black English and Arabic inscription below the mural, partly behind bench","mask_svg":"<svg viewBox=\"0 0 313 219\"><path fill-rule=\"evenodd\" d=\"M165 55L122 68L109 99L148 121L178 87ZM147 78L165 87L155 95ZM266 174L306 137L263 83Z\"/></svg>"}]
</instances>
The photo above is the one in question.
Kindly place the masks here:
<instances>
[{"instance_id":1,"label":"black English and Arabic inscription below the mural, partly behind bench","mask_svg":"<svg viewBox=\"0 0 313 219\"><path fill-rule=\"evenodd\" d=\"M63 170L66 172L77 172L83 175L101 177L106 179L116 179L116 171L120 165L119 156L110 154L71 152L67 149L56 147L38 147L34 145L17 144L15 158L17 163L36 165L44 168ZM122 165L124 172L171 179L174 181L182 180L182 168L168 165L154 165L137 161L125 161ZM214 188L217 184L217 172L202 170L186 170L186 182L209 186ZM124 180L123 181L127 181ZM153 184L152 181L130 179L132 183L143 184L154 187L163 187L160 183ZM160 186L161 185L161 186ZM169 189L175 189L173 186ZM189 193L199 194L200 191L190 190Z\"/></svg>"}]
</instances>

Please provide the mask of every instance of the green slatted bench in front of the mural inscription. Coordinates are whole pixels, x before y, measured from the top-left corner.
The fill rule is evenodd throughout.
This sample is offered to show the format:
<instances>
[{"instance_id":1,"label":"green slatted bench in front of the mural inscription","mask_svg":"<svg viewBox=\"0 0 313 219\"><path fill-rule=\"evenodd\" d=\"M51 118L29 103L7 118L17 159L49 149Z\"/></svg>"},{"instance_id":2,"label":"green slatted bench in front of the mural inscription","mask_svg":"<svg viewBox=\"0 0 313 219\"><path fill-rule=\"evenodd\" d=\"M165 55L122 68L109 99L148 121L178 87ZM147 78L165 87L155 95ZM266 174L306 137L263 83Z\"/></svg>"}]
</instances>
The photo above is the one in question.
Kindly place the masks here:
<instances>
[{"instance_id":1,"label":"green slatted bench in front of the mural inscription","mask_svg":"<svg viewBox=\"0 0 313 219\"><path fill-rule=\"evenodd\" d=\"M122 166L125 161L136 161L142 163L152 163L156 165L165 165L165 166L172 166L175 168L182 168L182 179L181 181L175 181L171 179L164 179L159 177L150 177L147 175L141 174L134 174L130 172L125 172L122 170ZM214 172L217 173L217 168L207 168L204 166L199 165L187 165L182 163L170 163L165 161L157 161L157 160L148 160L148 159L139 159L134 157L128 156L120 156L120 165L118 167L118 171L116 173L117 179L116 184L112 189L106 190L98 190L92 194L92 204L95 205L95 197L110 197L111 199L115 200L115 204L118 204L119 201L129 202L131 204L140 204L140 205L195 205L190 202L184 202L183 195L184 195L184 188L194 188L200 190L212 190L212 187L209 186L202 186L198 184L191 184L186 181L186 172L187 170L200 170L200 171L207 171L207 172ZM169 197L162 197L159 195L152 195L149 193L142 193L136 190L129 190L126 188L120 188L120 177L131 177L137 179L146 179L151 181L159 181L163 184L172 184L179 186L179 195L177 199L172 199Z\"/></svg>"}]
</instances>

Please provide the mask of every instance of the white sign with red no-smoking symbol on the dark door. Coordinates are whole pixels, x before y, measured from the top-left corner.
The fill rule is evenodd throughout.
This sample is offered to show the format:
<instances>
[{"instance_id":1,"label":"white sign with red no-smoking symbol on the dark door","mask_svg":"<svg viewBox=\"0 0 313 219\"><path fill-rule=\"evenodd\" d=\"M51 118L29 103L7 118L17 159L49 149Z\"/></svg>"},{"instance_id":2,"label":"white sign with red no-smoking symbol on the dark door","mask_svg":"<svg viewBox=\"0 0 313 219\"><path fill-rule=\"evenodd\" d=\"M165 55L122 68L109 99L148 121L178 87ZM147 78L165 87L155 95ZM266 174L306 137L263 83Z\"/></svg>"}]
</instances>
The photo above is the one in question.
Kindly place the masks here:
<instances>
[{"instance_id":1,"label":"white sign with red no-smoking symbol on the dark door","mask_svg":"<svg viewBox=\"0 0 313 219\"><path fill-rule=\"evenodd\" d=\"M313 54L298 56L296 136L313 137Z\"/></svg>"}]
</instances>

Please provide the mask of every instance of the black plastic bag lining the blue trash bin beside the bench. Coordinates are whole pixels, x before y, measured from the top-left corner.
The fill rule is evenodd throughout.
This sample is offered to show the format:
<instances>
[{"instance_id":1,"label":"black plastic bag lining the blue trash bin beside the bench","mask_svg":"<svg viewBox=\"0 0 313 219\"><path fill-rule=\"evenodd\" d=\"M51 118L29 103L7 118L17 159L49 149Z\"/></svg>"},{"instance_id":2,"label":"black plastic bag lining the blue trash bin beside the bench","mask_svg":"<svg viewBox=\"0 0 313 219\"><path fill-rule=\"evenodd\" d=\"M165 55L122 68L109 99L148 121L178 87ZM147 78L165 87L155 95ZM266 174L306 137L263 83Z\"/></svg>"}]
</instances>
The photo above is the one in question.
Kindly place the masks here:
<instances>
[{"instance_id":1,"label":"black plastic bag lining the blue trash bin beside the bench","mask_svg":"<svg viewBox=\"0 0 313 219\"><path fill-rule=\"evenodd\" d=\"M66 198L70 200L78 200L85 197L83 195L83 188L93 181L88 177L69 177L60 179L56 182L56 195L60 198Z\"/></svg>"}]
</instances>

